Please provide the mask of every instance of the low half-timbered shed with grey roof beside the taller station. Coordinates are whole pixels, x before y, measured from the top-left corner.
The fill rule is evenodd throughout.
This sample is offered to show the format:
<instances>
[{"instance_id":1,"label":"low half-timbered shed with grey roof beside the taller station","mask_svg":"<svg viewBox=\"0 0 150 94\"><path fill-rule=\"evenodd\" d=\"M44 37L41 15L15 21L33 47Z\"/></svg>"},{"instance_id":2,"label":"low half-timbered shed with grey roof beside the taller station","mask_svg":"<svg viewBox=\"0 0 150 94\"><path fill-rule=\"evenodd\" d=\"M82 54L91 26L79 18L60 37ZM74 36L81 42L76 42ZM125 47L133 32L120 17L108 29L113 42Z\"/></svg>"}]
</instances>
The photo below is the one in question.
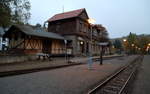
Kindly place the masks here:
<instances>
[{"instance_id":1,"label":"low half-timbered shed with grey roof beside the taller station","mask_svg":"<svg viewBox=\"0 0 150 94\"><path fill-rule=\"evenodd\" d=\"M13 25L5 33L9 38L9 50L23 54L64 54L64 37L44 28L30 25Z\"/></svg>"}]
</instances>

